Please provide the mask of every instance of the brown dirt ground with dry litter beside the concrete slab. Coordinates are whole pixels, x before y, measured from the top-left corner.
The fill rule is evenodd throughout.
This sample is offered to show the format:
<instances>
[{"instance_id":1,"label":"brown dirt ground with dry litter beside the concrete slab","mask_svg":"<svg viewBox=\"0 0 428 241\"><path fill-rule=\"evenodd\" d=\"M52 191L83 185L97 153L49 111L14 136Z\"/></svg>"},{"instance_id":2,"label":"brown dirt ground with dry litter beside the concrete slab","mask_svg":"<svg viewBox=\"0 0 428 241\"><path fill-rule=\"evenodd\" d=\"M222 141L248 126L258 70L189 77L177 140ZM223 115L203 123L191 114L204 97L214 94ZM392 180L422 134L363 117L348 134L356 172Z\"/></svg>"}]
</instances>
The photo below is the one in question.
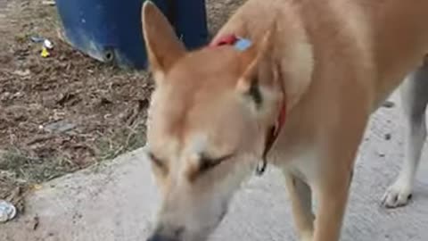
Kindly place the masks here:
<instances>
[{"instance_id":1,"label":"brown dirt ground with dry litter beside the concrete slab","mask_svg":"<svg viewBox=\"0 0 428 241\"><path fill-rule=\"evenodd\" d=\"M55 6L0 2L0 199L22 208L24 191L144 145L153 84L65 44ZM208 0L210 32L242 2Z\"/></svg>"}]
</instances>

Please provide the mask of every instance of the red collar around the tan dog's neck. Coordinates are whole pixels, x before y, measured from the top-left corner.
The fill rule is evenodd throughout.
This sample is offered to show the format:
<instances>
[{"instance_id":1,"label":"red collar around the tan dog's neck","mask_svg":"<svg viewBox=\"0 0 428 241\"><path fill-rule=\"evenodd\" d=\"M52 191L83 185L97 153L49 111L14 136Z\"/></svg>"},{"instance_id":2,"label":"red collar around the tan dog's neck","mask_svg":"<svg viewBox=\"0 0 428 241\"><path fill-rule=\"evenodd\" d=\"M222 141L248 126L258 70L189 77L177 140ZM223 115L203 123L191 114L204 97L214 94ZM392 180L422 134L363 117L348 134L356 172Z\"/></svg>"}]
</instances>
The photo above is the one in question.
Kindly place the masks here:
<instances>
[{"instance_id":1,"label":"red collar around the tan dog's neck","mask_svg":"<svg viewBox=\"0 0 428 241\"><path fill-rule=\"evenodd\" d=\"M216 46L234 46L235 43L240 38L235 36L234 34L229 34L224 37L218 37L214 39L210 43L210 47L216 47ZM284 87L282 87L283 93L284 93ZM275 144L276 139L278 138L281 129L284 127L285 119L286 119L286 112L287 112L287 106L285 100L283 101L283 104L281 106L281 109L279 110L278 117L276 118L275 124L268 129L267 137L266 137L266 144L265 149L263 151L262 156L262 162L259 163L259 166L257 167L256 174L262 175L268 165L267 157L268 152L272 149L272 146Z\"/></svg>"}]
</instances>

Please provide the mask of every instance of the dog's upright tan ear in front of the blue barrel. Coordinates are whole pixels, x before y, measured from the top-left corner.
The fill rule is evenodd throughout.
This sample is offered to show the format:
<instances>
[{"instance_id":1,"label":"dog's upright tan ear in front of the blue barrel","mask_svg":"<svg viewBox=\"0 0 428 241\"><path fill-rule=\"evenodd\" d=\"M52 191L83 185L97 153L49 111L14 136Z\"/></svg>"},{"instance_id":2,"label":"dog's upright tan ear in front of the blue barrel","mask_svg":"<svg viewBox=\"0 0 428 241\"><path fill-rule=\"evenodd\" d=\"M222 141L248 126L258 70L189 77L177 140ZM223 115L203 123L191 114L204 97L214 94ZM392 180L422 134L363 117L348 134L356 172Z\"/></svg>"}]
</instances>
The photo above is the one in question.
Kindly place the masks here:
<instances>
[{"instance_id":1,"label":"dog's upright tan ear in front of the blue barrel","mask_svg":"<svg viewBox=\"0 0 428 241\"><path fill-rule=\"evenodd\" d=\"M144 2L142 23L145 48L156 79L156 75L164 75L185 54L185 46L165 15L151 1Z\"/></svg>"}]
</instances>

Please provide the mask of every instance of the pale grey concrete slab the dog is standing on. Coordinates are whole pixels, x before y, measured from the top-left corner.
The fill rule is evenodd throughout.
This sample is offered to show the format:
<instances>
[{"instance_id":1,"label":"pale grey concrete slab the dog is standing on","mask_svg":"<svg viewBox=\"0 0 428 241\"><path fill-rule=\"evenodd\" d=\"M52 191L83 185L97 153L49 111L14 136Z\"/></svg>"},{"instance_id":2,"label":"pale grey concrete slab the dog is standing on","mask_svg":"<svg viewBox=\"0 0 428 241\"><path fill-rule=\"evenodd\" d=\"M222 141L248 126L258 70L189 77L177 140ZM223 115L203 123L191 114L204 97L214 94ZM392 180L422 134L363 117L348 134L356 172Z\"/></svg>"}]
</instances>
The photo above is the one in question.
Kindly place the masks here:
<instances>
[{"instance_id":1,"label":"pale grey concrete slab the dog is standing on","mask_svg":"<svg viewBox=\"0 0 428 241\"><path fill-rule=\"evenodd\" d=\"M403 157L400 118L396 105L382 108L371 120L358 156L344 241L428 240L428 162L419 173L410 205L398 210L380 206ZM29 196L23 216L0 225L0 240L142 241L157 204L149 162L137 150L46 183ZM244 185L212 240L296 240L277 170L271 168Z\"/></svg>"}]
</instances>

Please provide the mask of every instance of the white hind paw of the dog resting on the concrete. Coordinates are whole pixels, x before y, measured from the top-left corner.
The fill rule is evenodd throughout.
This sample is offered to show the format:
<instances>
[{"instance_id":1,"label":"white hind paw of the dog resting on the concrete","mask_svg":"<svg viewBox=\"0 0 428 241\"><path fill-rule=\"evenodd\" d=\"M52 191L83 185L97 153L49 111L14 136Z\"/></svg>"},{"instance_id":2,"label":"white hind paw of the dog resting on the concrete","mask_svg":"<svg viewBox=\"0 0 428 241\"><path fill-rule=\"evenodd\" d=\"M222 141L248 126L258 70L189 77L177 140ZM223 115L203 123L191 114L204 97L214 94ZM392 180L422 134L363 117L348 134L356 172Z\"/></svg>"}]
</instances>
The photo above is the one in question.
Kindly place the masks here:
<instances>
[{"instance_id":1,"label":"white hind paw of the dog resting on the concrete","mask_svg":"<svg viewBox=\"0 0 428 241\"><path fill-rule=\"evenodd\" d=\"M383 206L386 208L402 207L407 205L410 199L412 199L412 186L397 180L383 195Z\"/></svg>"}]
</instances>

